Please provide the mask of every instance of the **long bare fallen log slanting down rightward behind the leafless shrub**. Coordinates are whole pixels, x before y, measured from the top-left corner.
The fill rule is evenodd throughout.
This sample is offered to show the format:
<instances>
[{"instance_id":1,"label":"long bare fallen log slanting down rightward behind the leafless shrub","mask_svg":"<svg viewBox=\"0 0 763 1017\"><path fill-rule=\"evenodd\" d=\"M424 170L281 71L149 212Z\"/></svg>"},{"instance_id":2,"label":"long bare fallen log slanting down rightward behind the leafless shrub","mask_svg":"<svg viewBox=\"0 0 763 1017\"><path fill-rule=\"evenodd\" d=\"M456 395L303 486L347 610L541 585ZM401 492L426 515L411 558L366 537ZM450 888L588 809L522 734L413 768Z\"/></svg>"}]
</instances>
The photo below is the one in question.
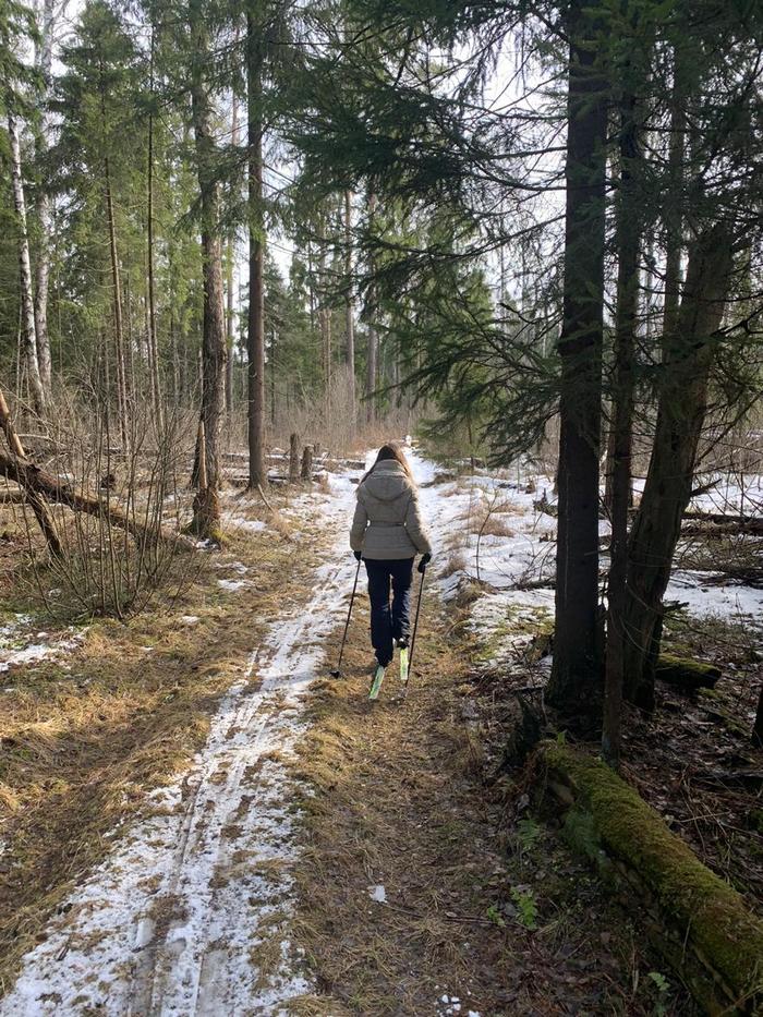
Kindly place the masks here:
<instances>
[{"instance_id":1,"label":"long bare fallen log slanting down rightward behind the leafless shrub","mask_svg":"<svg viewBox=\"0 0 763 1017\"><path fill-rule=\"evenodd\" d=\"M137 519L132 519L114 505L107 504L94 495L77 493L71 484L61 482L58 476L41 470L28 459L7 456L0 451L0 476L13 481L24 491L29 492L32 497L41 497L58 505L65 505L75 512L85 512L87 516L104 519L109 525L125 530L136 540L148 543L160 540L189 549L195 546L194 541L173 530L146 525Z\"/></svg>"}]
</instances>

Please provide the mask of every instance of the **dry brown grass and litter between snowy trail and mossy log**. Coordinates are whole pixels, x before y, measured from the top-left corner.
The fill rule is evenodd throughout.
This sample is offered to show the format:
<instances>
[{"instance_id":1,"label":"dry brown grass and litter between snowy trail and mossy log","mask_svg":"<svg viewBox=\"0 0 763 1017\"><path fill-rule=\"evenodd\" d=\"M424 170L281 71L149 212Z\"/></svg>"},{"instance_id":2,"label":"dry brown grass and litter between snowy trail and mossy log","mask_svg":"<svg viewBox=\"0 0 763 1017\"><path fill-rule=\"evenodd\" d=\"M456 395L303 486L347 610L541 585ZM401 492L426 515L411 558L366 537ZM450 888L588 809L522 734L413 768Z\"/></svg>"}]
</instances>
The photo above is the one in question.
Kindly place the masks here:
<instances>
[{"instance_id":1,"label":"dry brown grass and litter between snowy trail and mossy log","mask_svg":"<svg viewBox=\"0 0 763 1017\"><path fill-rule=\"evenodd\" d=\"M436 1014L445 992L462 1014L651 1013L634 998L631 965L643 961L621 912L558 840L544 835L547 853L532 869L524 848L507 852L511 799L485 791L495 762L480 723L463 719L469 645L453 640L452 619L427 597L408 700L390 676L371 704L365 602L359 615L344 677L313 686L295 766L313 791L300 801L295 933L319 992L293 1013ZM529 882L536 932L501 917ZM386 904L368 894L377 884ZM602 932L613 944L605 958Z\"/></svg>"}]
</instances>

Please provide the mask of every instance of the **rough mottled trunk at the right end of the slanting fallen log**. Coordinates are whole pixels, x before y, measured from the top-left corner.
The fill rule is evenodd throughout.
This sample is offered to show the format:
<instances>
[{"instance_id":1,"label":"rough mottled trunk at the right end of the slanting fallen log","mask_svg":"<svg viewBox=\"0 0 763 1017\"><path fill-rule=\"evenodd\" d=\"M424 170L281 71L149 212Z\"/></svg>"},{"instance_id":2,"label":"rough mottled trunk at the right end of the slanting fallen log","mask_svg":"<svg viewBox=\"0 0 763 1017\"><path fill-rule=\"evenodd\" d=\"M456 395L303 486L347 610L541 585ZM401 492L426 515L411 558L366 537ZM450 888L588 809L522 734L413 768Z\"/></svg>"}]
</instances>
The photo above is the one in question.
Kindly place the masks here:
<instances>
[{"instance_id":1,"label":"rough mottled trunk at the right end of the slanting fallen log","mask_svg":"<svg viewBox=\"0 0 763 1017\"><path fill-rule=\"evenodd\" d=\"M226 325L222 286L222 253L219 235L219 185L215 178L216 143L211 128L211 104L204 70L209 65L209 39L206 9L202 0L191 0L192 81L191 111L196 148L198 187L202 205L202 278L204 286L204 327L202 337L202 421L208 485L220 486L220 438L225 411ZM214 521L217 525L217 521ZM203 535L199 533L199 535Z\"/></svg>"}]
</instances>

